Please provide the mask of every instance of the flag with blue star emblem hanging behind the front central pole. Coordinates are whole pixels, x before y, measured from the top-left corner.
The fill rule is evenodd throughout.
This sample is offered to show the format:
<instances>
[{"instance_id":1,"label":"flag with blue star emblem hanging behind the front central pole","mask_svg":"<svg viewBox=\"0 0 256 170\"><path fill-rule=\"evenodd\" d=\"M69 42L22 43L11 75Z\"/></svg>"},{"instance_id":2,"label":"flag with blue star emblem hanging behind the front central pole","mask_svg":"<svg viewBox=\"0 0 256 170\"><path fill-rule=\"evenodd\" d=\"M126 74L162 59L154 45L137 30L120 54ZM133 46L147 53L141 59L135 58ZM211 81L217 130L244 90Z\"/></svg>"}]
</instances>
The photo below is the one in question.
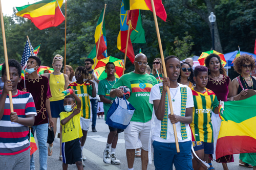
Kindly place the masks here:
<instances>
[{"instance_id":1,"label":"flag with blue star emblem hanging behind the front central pole","mask_svg":"<svg viewBox=\"0 0 256 170\"><path fill-rule=\"evenodd\" d=\"M127 22L129 19L131 20L131 30L133 31L134 28L137 27L137 21L139 17L139 10L132 10L132 11L125 11L123 2L121 4L121 11L120 11L120 32L117 37L117 48L125 53L125 47L126 47L126 39L128 34L128 25ZM132 31L130 30L130 35ZM128 46L127 46L127 57L130 59L130 61L134 62L134 50L133 50L133 44L131 41L131 38L129 36Z\"/></svg>"}]
</instances>

